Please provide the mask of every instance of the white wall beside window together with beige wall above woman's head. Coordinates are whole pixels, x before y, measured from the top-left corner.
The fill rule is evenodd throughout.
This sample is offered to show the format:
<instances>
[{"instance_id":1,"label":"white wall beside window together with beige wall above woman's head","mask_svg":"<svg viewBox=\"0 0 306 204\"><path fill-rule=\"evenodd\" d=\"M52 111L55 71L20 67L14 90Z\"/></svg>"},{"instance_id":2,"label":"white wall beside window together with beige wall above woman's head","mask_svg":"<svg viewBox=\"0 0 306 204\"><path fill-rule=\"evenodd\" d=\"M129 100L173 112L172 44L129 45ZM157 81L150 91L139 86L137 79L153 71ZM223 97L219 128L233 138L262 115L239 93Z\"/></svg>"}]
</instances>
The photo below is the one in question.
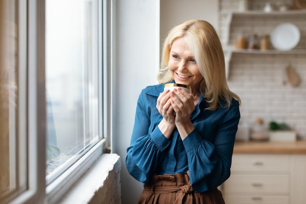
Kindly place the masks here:
<instances>
[{"instance_id":1,"label":"white wall beside window together with beige wall above woman's head","mask_svg":"<svg viewBox=\"0 0 306 204\"><path fill-rule=\"evenodd\" d=\"M143 185L127 172L126 150L130 145L138 95L146 86L157 83L160 33L165 35L171 27L189 19L205 19L217 26L218 1L160 0L160 6L158 0L115 2L114 78L117 83L114 82L116 86L113 92L112 152L120 155L122 161L122 204L135 204Z\"/></svg>"}]
</instances>

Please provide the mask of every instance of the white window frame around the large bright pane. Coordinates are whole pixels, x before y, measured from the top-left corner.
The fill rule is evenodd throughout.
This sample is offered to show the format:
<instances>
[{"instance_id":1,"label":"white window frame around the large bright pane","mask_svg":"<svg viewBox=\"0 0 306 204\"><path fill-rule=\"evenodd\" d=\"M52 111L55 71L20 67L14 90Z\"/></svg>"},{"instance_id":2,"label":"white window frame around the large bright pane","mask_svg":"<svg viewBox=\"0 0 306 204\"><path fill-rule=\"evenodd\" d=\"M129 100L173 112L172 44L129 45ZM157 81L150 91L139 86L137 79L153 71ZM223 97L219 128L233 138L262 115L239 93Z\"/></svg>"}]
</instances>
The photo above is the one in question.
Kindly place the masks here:
<instances>
[{"instance_id":1,"label":"white window frame around the large bright pane","mask_svg":"<svg viewBox=\"0 0 306 204\"><path fill-rule=\"evenodd\" d=\"M76 161L57 179L46 185L45 139L45 0L21 0L26 4L26 120L28 159L28 189L9 204L58 203L71 186L104 153L110 152L111 136L111 24L112 0L97 0L99 41L99 140L82 158ZM22 15L20 15L22 16ZM20 21L22 21L20 17ZM22 36L22 35L20 35ZM19 47L20 48L20 47ZM23 62L23 61L22 61ZM25 89L24 89L25 90Z\"/></svg>"}]
</instances>

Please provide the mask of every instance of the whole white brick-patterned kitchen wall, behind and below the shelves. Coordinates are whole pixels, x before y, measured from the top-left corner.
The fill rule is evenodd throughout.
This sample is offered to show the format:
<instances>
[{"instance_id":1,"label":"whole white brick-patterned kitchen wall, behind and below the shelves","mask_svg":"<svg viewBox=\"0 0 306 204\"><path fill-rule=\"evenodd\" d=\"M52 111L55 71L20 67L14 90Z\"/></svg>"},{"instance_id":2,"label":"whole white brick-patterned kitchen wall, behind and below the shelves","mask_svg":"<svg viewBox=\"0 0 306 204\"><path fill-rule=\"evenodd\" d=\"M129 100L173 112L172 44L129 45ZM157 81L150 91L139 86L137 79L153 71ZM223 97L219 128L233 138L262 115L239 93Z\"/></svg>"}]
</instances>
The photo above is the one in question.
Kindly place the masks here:
<instances>
[{"instance_id":1,"label":"whole white brick-patterned kitchen wall, behind and below the shelves","mask_svg":"<svg viewBox=\"0 0 306 204\"><path fill-rule=\"evenodd\" d=\"M220 0L220 10L235 10L239 0ZM260 3L263 0L250 0ZM278 0L269 2L279 3ZM290 2L290 1L287 1ZM235 18L235 17L234 17ZM241 30L270 33L280 23L296 24L302 34L298 49L306 48L306 15L278 17L233 18L230 27L229 45ZM226 18L220 14L220 38L226 36ZM225 45L226 46L226 45ZM291 65L301 78L298 87L291 87L285 80L285 68ZM306 53L302 54L251 54L233 53L229 64L228 84L242 100L241 122L254 124L262 117L265 124L274 120L287 123L298 133L299 139L306 139Z\"/></svg>"}]
</instances>

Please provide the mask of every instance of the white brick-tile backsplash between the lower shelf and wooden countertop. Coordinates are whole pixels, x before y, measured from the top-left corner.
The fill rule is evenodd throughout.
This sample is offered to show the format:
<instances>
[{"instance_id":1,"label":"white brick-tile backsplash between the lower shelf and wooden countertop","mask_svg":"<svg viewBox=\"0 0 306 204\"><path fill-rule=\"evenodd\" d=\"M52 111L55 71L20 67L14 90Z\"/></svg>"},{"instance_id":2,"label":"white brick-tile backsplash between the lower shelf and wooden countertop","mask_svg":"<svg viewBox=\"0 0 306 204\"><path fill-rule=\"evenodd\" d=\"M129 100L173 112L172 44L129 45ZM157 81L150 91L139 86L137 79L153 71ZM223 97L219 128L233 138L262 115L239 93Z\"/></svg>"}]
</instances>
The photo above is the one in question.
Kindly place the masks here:
<instances>
[{"instance_id":1,"label":"white brick-tile backsplash between the lower shelf and wooden countertop","mask_svg":"<svg viewBox=\"0 0 306 204\"><path fill-rule=\"evenodd\" d=\"M305 54L233 54L228 84L241 97L241 122L252 125L257 117L285 122L306 139ZM298 87L284 84L284 69L291 64L301 78Z\"/></svg>"}]
</instances>

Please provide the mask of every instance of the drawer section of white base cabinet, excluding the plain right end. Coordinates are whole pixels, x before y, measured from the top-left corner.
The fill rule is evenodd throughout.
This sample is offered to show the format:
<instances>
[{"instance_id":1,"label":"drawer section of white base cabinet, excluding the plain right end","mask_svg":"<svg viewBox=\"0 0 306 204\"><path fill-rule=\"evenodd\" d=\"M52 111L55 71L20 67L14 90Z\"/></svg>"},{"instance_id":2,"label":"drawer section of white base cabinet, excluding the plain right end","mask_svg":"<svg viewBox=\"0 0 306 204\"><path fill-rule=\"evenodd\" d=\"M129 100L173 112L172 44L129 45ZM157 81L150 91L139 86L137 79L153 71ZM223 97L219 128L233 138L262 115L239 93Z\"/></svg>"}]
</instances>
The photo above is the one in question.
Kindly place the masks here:
<instances>
[{"instance_id":1,"label":"drawer section of white base cabinet, excluding the plain right end","mask_svg":"<svg viewBox=\"0 0 306 204\"><path fill-rule=\"evenodd\" d=\"M289 156L234 154L226 204L289 204Z\"/></svg>"}]
</instances>

